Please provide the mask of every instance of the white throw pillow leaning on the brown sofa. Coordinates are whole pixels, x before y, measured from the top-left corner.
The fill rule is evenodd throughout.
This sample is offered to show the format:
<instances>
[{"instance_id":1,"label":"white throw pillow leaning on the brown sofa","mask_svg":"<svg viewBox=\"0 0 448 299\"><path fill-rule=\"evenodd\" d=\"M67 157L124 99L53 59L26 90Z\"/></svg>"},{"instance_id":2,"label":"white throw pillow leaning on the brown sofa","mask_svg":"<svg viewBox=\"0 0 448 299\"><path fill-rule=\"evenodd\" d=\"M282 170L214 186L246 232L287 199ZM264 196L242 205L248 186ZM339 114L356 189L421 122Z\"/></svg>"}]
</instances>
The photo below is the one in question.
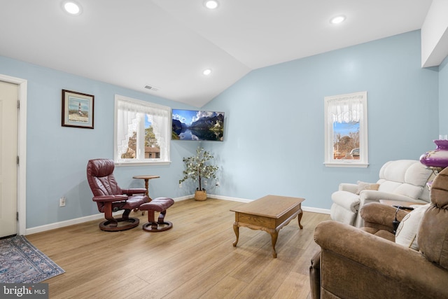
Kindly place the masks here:
<instances>
[{"instance_id":1,"label":"white throw pillow leaning on the brown sofa","mask_svg":"<svg viewBox=\"0 0 448 299\"><path fill-rule=\"evenodd\" d=\"M397 232L395 232L395 243L414 250L419 250L417 232L419 231L423 214L425 214L429 206L430 204L423 204L420 207L416 207L402 218L400 225L398 225Z\"/></svg>"}]
</instances>

